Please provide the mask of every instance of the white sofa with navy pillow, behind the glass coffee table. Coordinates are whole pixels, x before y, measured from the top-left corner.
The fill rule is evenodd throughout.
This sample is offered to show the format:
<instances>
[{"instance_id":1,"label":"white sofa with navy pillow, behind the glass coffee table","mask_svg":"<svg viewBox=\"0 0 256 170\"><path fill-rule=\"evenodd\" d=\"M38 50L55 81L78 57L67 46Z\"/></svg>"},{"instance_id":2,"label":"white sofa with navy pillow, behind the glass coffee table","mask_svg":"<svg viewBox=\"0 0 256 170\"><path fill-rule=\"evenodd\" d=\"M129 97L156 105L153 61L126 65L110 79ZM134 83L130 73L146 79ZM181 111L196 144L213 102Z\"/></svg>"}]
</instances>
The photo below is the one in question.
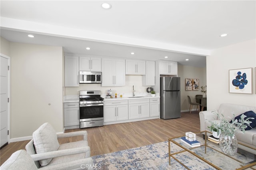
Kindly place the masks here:
<instances>
[{"instance_id":1,"label":"white sofa with navy pillow, behind the glass coffee table","mask_svg":"<svg viewBox=\"0 0 256 170\"><path fill-rule=\"evenodd\" d=\"M221 104L219 109L216 109L216 111L223 114L224 117L232 118L232 112L234 112L235 116L245 113L246 111L254 111L254 113L256 113L256 107L224 103ZM211 125L210 121L218 121L217 115L212 113L212 111L201 111L199 113L199 117L201 131L209 131L208 127ZM238 148L256 154L256 128L246 130L245 133L236 133L236 138L238 142L246 145L238 144Z\"/></svg>"}]
</instances>

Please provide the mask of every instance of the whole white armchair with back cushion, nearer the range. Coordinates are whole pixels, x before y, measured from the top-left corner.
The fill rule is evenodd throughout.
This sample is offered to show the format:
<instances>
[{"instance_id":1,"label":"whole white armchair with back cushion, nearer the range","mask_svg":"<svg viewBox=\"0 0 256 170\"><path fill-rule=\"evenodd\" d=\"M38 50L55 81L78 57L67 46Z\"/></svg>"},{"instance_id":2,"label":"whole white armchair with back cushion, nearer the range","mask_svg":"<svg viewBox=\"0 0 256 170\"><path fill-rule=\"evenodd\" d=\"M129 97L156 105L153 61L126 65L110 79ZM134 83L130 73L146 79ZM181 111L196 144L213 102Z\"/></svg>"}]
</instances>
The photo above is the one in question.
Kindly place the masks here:
<instances>
[{"instance_id":1,"label":"whole white armchair with back cushion, nearer the range","mask_svg":"<svg viewBox=\"0 0 256 170\"><path fill-rule=\"evenodd\" d=\"M58 138L79 135L83 135L84 140L64 144L59 144L58 142ZM60 164L72 163L73 161L79 162L79 160L84 162L82 164L87 164L89 169L92 168L90 147L88 146L87 132L85 130L56 134L49 123L44 123L33 132L33 139L26 145L26 151L35 161L37 168L50 168Z\"/></svg>"}]
</instances>

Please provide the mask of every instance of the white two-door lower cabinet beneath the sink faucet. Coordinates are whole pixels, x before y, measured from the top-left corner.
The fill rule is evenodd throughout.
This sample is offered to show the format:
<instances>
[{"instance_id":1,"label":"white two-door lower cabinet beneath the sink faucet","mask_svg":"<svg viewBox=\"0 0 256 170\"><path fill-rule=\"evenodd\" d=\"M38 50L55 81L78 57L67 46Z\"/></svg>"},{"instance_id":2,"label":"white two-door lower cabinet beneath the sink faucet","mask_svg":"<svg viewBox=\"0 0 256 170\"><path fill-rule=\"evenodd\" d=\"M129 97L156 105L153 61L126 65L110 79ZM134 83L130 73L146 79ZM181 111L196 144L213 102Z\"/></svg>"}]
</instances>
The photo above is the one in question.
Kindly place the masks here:
<instances>
[{"instance_id":1,"label":"white two-door lower cabinet beneath the sink faucet","mask_svg":"<svg viewBox=\"0 0 256 170\"><path fill-rule=\"evenodd\" d=\"M129 100L129 119L150 117L149 99Z\"/></svg>"}]
</instances>

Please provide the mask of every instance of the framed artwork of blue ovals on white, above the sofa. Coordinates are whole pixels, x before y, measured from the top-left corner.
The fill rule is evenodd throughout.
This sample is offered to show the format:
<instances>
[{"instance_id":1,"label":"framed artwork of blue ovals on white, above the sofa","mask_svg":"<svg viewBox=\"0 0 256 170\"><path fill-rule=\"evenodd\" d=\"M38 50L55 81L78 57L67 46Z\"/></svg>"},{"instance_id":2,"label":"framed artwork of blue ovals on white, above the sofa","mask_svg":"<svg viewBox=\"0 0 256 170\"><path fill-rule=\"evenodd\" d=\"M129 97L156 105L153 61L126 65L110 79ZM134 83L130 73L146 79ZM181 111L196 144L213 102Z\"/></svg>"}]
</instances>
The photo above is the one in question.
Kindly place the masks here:
<instances>
[{"instance_id":1,"label":"framed artwork of blue ovals on white, above the sofa","mask_svg":"<svg viewBox=\"0 0 256 170\"><path fill-rule=\"evenodd\" d=\"M252 94L252 68L229 70L229 93Z\"/></svg>"}]
</instances>

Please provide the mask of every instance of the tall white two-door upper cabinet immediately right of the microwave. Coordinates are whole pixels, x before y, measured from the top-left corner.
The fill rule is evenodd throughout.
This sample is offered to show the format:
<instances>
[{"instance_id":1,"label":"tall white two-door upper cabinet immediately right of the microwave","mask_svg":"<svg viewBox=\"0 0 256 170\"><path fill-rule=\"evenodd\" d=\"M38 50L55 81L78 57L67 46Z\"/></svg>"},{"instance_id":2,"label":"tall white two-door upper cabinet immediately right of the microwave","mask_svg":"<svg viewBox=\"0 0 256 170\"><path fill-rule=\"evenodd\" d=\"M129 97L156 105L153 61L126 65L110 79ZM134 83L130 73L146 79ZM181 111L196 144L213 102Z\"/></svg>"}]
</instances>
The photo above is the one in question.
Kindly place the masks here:
<instances>
[{"instance_id":1,"label":"tall white two-door upper cabinet immediately right of the microwave","mask_svg":"<svg viewBox=\"0 0 256 170\"><path fill-rule=\"evenodd\" d=\"M125 60L102 59L102 86L125 86Z\"/></svg>"}]
</instances>

